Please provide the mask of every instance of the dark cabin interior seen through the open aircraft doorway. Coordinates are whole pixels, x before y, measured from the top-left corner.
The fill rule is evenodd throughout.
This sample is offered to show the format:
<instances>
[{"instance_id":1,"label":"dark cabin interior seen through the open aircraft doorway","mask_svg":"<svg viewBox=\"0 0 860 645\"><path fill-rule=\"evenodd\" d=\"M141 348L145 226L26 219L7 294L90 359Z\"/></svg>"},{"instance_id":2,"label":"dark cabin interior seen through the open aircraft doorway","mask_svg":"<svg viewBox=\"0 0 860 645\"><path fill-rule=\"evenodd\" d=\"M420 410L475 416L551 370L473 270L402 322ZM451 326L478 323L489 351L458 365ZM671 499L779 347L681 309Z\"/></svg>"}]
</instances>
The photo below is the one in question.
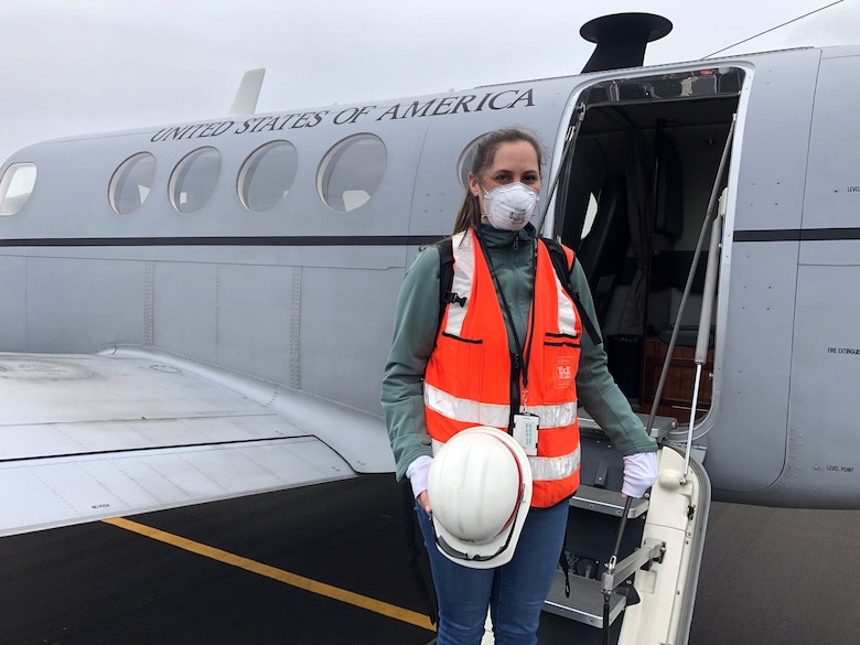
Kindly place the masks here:
<instances>
[{"instance_id":1,"label":"dark cabin interior seen through the open aircraft doorway","mask_svg":"<svg viewBox=\"0 0 860 645\"><path fill-rule=\"evenodd\" d=\"M740 69L705 69L583 95L556 230L589 277L610 369L641 412L652 411L714 183L725 184L718 172L741 84ZM657 408L679 423L690 418L709 239L708 230ZM710 407L713 340L712 320L697 419Z\"/></svg>"}]
</instances>

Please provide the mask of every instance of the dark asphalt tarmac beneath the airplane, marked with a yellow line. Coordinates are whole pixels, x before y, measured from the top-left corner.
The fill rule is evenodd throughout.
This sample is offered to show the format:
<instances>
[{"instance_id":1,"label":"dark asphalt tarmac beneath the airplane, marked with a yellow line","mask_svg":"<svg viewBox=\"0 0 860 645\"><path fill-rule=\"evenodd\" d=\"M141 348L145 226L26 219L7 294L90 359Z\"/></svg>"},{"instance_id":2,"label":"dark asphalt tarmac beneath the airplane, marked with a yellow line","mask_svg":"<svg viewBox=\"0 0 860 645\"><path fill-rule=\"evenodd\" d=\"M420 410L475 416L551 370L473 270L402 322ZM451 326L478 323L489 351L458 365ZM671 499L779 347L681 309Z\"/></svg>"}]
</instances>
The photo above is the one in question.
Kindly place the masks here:
<instances>
[{"instance_id":1,"label":"dark asphalt tarmac beneath the airplane, marked with a yellow line","mask_svg":"<svg viewBox=\"0 0 860 645\"><path fill-rule=\"evenodd\" d=\"M0 644L426 645L402 517L368 475L0 538ZM857 643L858 544L860 512L714 503L689 643Z\"/></svg>"}]
</instances>

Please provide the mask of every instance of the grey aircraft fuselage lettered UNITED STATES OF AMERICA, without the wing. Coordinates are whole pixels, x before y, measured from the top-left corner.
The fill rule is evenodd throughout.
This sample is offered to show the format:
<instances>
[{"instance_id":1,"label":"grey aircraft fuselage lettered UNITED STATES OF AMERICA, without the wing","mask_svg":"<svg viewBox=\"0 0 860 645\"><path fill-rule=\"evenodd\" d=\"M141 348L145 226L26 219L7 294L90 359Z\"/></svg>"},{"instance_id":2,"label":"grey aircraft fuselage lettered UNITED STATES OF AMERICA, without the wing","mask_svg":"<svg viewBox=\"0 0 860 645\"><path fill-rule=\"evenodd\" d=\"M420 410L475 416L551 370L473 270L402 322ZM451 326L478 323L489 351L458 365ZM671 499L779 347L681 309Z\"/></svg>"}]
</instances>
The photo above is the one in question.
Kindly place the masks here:
<instances>
[{"instance_id":1,"label":"grey aircraft fuselage lettered UNITED STATES OF AMERICA, without the wing","mask_svg":"<svg viewBox=\"0 0 860 645\"><path fill-rule=\"evenodd\" d=\"M805 49L39 143L2 169L0 350L152 347L380 416L404 273L451 232L471 143L523 126L549 153L545 186L561 173L544 233L587 269L616 257L601 324L644 411L647 351L727 189L695 424L716 497L860 508L858 71L858 49ZM6 179L33 169L29 190ZM613 176L641 208L587 251ZM686 396L660 413L688 423Z\"/></svg>"}]
</instances>

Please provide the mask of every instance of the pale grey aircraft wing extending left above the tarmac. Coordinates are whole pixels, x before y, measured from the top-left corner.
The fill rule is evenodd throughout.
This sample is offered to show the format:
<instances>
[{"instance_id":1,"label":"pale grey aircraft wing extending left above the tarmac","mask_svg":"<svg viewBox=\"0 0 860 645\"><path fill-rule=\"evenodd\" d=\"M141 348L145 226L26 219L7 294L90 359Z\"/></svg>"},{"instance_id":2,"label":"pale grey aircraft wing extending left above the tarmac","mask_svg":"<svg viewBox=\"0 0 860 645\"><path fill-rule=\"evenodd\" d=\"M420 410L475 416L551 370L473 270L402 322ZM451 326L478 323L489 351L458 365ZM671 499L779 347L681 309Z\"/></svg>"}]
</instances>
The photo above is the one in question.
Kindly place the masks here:
<instances>
[{"instance_id":1,"label":"pale grey aircraft wing extending left above the tarmac","mask_svg":"<svg viewBox=\"0 0 860 645\"><path fill-rule=\"evenodd\" d=\"M158 354L0 353L0 536L394 469L381 419Z\"/></svg>"}]
</instances>

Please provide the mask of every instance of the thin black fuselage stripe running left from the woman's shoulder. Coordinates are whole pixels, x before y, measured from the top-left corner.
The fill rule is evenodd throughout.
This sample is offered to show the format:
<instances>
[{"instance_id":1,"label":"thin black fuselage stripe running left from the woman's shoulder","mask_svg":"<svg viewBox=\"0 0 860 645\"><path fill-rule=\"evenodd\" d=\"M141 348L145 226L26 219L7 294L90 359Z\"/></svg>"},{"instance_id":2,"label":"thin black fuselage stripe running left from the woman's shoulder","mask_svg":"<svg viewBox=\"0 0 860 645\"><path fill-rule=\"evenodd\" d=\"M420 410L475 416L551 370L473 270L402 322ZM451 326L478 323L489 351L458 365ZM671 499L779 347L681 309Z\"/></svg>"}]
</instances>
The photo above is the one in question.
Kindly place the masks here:
<instances>
[{"instance_id":1,"label":"thin black fuselage stripe running left from the woman's shoulder","mask_svg":"<svg viewBox=\"0 0 860 645\"><path fill-rule=\"evenodd\" d=\"M434 244L441 236L215 236L215 237L31 237L0 239L0 247L83 247L83 246L421 246Z\"/></svg>"}]
</instances>

